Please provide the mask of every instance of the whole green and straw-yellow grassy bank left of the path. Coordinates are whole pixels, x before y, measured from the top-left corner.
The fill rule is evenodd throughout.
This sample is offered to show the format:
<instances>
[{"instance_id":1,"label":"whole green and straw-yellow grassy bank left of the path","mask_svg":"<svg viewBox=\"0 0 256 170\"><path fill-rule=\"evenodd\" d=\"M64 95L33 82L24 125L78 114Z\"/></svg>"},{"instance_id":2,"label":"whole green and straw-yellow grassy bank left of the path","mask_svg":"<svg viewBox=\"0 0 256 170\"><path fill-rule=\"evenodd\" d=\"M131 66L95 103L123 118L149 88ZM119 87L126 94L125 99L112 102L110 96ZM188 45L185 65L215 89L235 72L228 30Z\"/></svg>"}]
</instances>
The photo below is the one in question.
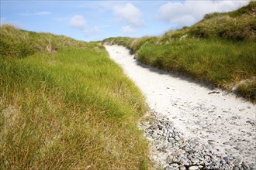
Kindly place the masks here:
<instances>
[{"instance_id":1,"label":"whole green and straw-yellow grassy bank left of the path","mask_svg":"<svg viewBox=\"0 0 256 170\"><path fill-rule=\"evenodd\" d=\"M1 37L1 169L148 168L144 97L104 47L12 26Z\"/></svg>"}]
</instances>

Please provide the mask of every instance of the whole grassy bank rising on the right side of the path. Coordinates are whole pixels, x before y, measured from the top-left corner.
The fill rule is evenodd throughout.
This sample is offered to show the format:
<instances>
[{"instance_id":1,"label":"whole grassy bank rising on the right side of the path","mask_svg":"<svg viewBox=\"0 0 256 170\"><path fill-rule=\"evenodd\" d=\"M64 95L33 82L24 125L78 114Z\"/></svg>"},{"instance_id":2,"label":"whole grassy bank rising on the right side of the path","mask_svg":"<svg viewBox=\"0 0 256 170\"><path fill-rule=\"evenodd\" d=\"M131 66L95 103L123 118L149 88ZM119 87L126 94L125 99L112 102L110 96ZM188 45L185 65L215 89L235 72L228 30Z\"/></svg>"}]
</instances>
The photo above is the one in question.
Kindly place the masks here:
<instances>
[{"instance_id":1,"label":"whole grassy bank rising on the right side of the path","mask_svg":"<svg viewBox=\"0 0 256 170\"><path fill-rule=\"evenodd\" d=\"M239 84L237 93L255 103L255 11L256 2L250 2L234 12L208 14L194 26L160 37L117 37L103 42L126 46L150 66L216 87L232 90Z\"/></svg>"}]
</instances>

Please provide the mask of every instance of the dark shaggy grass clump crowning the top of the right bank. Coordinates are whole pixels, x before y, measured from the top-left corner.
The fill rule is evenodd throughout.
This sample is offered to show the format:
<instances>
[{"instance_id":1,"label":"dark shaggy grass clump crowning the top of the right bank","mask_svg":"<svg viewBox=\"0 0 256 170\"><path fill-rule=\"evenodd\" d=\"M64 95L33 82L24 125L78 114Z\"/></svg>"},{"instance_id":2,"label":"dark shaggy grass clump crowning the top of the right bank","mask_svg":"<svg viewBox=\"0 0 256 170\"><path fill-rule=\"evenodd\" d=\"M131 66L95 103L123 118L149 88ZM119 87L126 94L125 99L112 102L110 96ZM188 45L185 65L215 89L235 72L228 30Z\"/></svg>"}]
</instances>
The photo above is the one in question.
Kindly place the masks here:
<instances>
[{"instance_id":1,"label":"dark shaggy grass clump crowning the top of the right bank","mask_svg":"<svg viewBox=\"0 0 256 170\"><path fill-rule=\"evenodd\" d=\"M255 15L256 2L250 2L234 12L207 14L191 27L189 34L199 38L250 39L256 32Z\"/></svg>"}]
</instances>

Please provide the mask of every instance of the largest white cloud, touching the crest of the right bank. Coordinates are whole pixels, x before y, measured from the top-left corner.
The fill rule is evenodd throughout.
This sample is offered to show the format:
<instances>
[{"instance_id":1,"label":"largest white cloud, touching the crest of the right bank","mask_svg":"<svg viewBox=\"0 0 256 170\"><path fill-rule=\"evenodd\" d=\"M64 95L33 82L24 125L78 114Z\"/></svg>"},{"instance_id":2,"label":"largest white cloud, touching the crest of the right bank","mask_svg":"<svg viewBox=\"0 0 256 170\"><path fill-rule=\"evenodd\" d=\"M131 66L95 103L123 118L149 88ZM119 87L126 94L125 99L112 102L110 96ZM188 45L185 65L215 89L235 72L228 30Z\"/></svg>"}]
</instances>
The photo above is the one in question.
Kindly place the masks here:
<instances>
[{"instance_id":1,"label":"largest white cloud, touching the crest of the right bank","mask_svg":"<svg viewBox=\"0 0 256 170\"><path fill-rule=\"evenodd\" d=\"M243 1L185 1L168 2L161 5L158 19L175 26L191 26L204 15L211 12L229 12L247 5L249 0Z\"/></svg>"}]
</instances>

